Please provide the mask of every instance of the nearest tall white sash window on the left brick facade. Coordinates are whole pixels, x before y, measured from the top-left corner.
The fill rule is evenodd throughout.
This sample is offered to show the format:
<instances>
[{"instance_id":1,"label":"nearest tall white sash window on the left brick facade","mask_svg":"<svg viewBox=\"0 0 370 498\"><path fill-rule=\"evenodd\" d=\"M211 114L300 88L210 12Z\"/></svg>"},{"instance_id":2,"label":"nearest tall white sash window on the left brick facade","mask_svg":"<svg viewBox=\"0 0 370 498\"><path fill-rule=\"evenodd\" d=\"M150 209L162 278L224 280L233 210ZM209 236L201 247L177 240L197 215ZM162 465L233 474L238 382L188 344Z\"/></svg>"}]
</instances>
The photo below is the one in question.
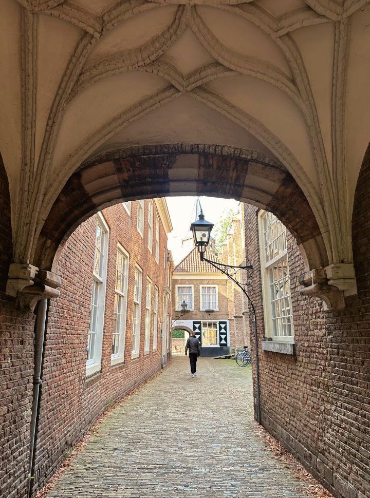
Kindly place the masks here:
<instances>
[{"instance_id":1,"label":"nearest tall white sash window on the left brick facade","mask_svg":"<svg viewBox=\"0 0 370 498\"><path fill-rule=\"evenodd\" d=\"M93 290L91 292L90 327L87 342L86 375L100 370L104 327L105 286L108 255L108 226L98 213L95 235Z\"/></svg>"}]
</instances>

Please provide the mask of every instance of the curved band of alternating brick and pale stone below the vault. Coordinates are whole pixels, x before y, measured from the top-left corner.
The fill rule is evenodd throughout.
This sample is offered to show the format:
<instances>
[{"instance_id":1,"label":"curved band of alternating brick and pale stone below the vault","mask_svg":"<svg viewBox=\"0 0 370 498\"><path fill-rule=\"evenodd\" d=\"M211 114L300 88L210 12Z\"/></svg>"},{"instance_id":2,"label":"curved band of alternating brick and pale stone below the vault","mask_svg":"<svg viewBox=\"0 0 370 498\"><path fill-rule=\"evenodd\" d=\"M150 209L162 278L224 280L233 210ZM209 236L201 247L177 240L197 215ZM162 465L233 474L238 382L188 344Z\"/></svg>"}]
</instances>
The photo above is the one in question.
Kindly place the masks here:
<instances>
[{"instance_id":1,"label":"curved band of alternating brick and pale stone below the vault","mask_svg":"<svg viewBox=\"0 0 370 498\"><path fill-rule=\"evenodd\" d=\"M179 195L234 198L271 211L297 239L307 270L328 264L317 219L282 164L252 150L204 144L119 149L83 163L45 220L35 264L51 269L68 236L100 209L125 200Z\"/></svg>"}]
</instances>

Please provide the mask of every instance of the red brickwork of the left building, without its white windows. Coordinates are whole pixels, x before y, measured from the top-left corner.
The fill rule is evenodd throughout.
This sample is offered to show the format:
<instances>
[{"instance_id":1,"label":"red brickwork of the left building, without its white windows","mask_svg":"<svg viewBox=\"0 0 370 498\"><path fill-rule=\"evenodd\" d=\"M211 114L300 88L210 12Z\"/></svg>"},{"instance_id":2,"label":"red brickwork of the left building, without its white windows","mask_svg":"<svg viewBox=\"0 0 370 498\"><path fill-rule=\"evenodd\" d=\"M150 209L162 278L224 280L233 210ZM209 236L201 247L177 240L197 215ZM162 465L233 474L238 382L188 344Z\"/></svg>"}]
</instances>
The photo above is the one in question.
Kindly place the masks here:
<instances>
[{"instance_id":1,"label":"red brickwork of the left building, without its white windows","mask_svg":"<svg viewBox=\"0 0 370 498\"><path fill-rule=\"evenodd\" d=\"M162 290L167 285L164 252L167 236L160 225L159 265L155 261L154 205L153 255L147 248L147 209L145 201L144 237L136 229L137 201L131 216L121 204L104 209L109 226L108 271L105 299L101 372L86 378L86 347L90 321L90 299L94 262L96 216L91 217L69 237L58 262L62 277L61 296L51 301L48 314L39 434L36 442L35 486L33 494L55 469L99 415L115 400L140 385L161 368L160 321ZM111 365L114 328L114 293L117 243L130 254L127 292L127 320L124 363ZM140 356L131 359L133 329L133 287L135 263L142 271ZM169 263L166 263L168 265ZM146 276L152 279L150 353L144 354ZM159 289L157 351L153 352L154 286ZM167 313L171 314L168 306ZM168 347L170 359L170 347Z\"/></svg>"}]
</instances>

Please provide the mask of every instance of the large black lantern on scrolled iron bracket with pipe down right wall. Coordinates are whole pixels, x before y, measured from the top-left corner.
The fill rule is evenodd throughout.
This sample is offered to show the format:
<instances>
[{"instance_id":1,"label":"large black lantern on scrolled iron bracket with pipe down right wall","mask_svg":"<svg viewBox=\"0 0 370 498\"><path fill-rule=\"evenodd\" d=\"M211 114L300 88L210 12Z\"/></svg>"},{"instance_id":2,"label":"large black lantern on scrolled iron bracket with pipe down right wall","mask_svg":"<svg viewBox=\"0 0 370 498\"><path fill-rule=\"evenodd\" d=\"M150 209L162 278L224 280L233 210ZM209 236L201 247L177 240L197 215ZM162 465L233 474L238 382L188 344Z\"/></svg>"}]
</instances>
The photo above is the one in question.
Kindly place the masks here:
<instances>
[{"instance_id":1,"label":"large black lantern on scrolled iron bracket with pipe down right wall","mask_svg":"<svg viewBox=\"0 0 370 498\"><path fill-rule=\"evenodd\" d=\"M232 280L238 287L243 291L243 293L247 296L248 302L251 305L253 311L253 324L254 324L254 344L255 344L255 365L256 365L256 391L257 391L257 417L258 424L261 424L261 394L260 394L260 360L258 358L258 337L257 337L257 317L254 305L248 295L247 286L248 282L240 282L238 279L238 275L241 275L238 272L241 270L253 270L253 265L245 265L245 266L234 266L231 264L219 263L218 261L212 261L211 259L205 258L205 251L207 245L209 244L209 240L211 237L211 230L213 228L213 223L205 220L202 209L200 210L199 220L194 221L190 225L190 230L193 233L194 244L198 249L200 261L204 261L206 263L211 264L221 273L226 275L230 280Z\"/></svg>"}]
</instances>

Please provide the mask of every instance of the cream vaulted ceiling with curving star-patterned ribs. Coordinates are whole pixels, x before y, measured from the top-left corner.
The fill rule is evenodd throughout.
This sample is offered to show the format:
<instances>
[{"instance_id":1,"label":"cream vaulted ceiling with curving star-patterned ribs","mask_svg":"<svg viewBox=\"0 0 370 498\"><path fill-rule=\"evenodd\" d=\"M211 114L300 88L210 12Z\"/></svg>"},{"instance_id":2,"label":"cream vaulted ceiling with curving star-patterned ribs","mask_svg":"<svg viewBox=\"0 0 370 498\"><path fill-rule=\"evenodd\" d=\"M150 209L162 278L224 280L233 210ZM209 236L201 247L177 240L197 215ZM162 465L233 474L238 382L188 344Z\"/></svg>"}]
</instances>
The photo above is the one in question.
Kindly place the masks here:
<instances>
[{"instance_id":1,"label":"cream vaulted ceiling with curving star-patterned ribs","mask_svg":"<svg viewBox=\"0 0 370 498\"><path fill-rule=\"evenodd\" d=\"M219 144L288 170L328 261L351 262L370 137L367 4L2 0L0 151L14 260L32 260L82 163L133 146Z\"/></svg>"}]
</instances>

